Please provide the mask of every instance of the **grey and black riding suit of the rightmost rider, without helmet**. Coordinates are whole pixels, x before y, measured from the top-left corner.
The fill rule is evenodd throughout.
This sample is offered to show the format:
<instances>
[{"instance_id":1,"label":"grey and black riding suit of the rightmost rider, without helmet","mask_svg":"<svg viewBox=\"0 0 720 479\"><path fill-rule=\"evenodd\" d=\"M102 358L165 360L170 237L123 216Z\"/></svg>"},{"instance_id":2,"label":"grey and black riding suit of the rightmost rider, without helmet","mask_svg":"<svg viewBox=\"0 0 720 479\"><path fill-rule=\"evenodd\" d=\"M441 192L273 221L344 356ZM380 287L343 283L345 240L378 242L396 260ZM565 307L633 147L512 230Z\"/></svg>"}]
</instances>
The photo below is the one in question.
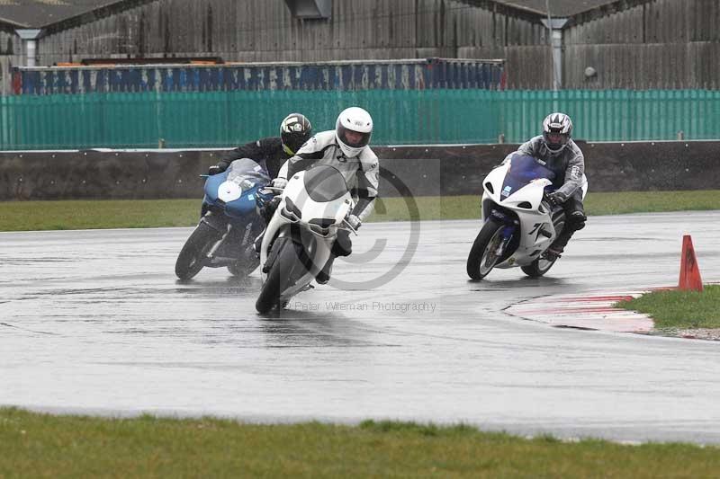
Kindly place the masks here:
<instances>
[{"instance_id":1,"label":"grey and black riding suit of the rightmost rider, without helmet","mask_svg":"<svg viewBox=\"0 0 720 479\"><path fill-rule=\"evenodd\" d=\"M556 191L563 193L567 200L563 203L567 221L557 239L551 245L556 253L563 253L573 233L585 227L585 210L582 205L582 182L585 173L585 156L574 141L568 140L563 150L553 155L545 146L542 136L531 138L518 147L518 152L536 157L536 159L555 173Z\"/></svg>"}]
</instances>

